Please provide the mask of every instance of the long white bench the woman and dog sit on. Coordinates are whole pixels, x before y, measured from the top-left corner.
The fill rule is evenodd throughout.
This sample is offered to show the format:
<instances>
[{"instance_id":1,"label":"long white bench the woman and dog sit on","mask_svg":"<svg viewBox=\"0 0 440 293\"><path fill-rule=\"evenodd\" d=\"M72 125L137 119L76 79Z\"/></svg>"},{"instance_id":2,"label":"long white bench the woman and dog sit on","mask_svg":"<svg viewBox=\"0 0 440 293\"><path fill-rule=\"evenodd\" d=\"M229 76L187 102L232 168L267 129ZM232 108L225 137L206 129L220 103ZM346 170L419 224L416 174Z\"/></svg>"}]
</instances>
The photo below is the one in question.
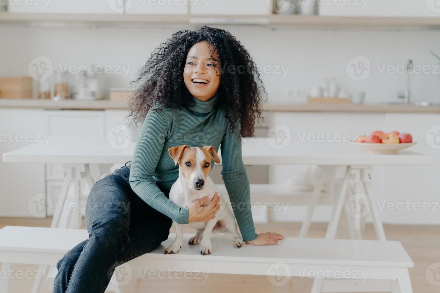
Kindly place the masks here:
<instances>
[{"instance_id":1,"label":"long white bench the woman and dog sit on","mask_svg":"<svg viewBox=\"0 0 440 293\"><path fill-rule=\"evenodd\" d=\"M185 234L184 243L191 236ZM408 267L413 267L413 262L400 242L286 238L277 247L245 245L235 249L227 235L217 234L212 237L213 254L209 256L200 255L199 245L184 245L179 253L165 255L164 250L174 237L170 234L168 240L154 251L121 265L119 268L124 267L124 270L115 279L121 285L126 284L127 278L138 277L142 268L167 272L266 275L274 286L289 282L291 276L319 276L325 282L323 286L319 284L322 288L315 286L312 293L371 292L379 280L381 288L386 282L392 293L412 293ZM55 265L68 250L87 238L88 232L80 229L4 227L0 229L2 272L7 272L15 263ZM0 292L11 292L9 281L0 278ZM341 282L345 282L344 289L341 289Z\"/></svg>"}]
</instances>

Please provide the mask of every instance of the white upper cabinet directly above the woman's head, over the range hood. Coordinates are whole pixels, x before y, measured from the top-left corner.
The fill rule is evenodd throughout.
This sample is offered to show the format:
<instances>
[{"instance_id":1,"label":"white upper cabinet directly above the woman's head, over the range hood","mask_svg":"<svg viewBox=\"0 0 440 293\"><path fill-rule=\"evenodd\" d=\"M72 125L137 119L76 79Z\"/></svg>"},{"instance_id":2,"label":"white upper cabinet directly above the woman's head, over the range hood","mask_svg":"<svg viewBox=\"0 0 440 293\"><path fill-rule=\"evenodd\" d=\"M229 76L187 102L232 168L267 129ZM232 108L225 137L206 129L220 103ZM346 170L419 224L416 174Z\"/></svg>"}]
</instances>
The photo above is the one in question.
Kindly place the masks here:
<instances>
[{"instance_id":1,"label":"white upper cabinet directly above the woman's head, over the range hood","mask_svg":"<svg viewBox=\"0 0 440 293\"><path fill-rule=\"evenodd\" d=\"M269 15L271 0L192 0L192 15Z\"/></svg>"}]
</instances>

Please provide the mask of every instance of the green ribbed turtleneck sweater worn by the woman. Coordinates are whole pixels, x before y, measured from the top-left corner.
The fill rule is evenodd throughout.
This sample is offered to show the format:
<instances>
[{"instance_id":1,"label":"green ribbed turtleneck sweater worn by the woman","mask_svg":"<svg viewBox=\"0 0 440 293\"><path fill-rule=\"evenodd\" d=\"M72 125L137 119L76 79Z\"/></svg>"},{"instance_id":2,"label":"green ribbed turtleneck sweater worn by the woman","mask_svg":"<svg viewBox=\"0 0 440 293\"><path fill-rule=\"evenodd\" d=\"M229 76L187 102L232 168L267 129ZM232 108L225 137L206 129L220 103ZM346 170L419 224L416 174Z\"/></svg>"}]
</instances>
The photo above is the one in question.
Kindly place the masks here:
<instances>
[{"instance_id":1,"label":"green ribbed turtleneck sweater worn by the woman","mask_svg":"<svg viewBox=\"0 0 440 293\"><path fill-rule=\"evenodd\" d=\"M130 169L130 185L148 205L179 224L188 223L188 207L174 204L159 189L170 190L179 177L179 166L168 154L170 147L213 146L221 149L222 178L244 241L257 238L250 207L249 180L242 160L242 144L224 117L223 108L214 109L218 93L208 101L192 98L194 106L183 109L148 111L136 143ZM155 106L157 107L157 106ZM213 168L214 161L212 161Z\"/></svg>"}]
</instances>

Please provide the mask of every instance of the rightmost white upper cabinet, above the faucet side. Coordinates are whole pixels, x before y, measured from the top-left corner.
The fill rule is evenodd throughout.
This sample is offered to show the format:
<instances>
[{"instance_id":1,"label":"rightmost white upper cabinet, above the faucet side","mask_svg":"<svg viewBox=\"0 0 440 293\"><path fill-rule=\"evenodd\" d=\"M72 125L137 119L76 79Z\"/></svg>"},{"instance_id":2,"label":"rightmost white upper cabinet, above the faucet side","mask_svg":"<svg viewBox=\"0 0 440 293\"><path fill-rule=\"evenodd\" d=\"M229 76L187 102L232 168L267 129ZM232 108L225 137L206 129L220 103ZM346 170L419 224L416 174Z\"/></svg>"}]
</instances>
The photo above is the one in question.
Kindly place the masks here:
<instances>
[{"instance_id":1,"label":"rightmost white upper cabinet, above the faucet side","mask_svg":"<svg viewBox=\"0 0 440 293\"><path fill-rule=\"evenodd\" d=\"M319 15L323 16L440 16L440 0L319 1Z\"/></svg>"}]
</instances>

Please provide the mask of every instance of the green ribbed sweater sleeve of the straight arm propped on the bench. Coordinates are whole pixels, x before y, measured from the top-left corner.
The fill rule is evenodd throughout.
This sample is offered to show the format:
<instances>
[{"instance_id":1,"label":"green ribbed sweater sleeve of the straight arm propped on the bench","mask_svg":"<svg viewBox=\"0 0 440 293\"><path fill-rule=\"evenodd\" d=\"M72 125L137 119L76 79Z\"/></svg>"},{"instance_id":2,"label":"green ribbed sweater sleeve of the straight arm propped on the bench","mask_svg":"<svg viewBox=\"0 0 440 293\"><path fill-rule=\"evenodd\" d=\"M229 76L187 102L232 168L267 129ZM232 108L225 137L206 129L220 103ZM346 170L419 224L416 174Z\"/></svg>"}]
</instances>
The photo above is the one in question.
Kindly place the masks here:
<instances>
[{"instance_id":1,"label":"green ribbed sweater sleeve of the straight arm propped on the bench","mask_svg":"<svg viewBox=\"0 0 440 293\"><path fill-rule=\"evenodd\" d=\"M228 124L229 125L229 124ZM240 124L232 133L228 126L220 144L223 169L221 171L238 227L244 241L257 238L250 205L249 179L242 159L242 142L239 138Z\"/></svg>"}]
</instances>

